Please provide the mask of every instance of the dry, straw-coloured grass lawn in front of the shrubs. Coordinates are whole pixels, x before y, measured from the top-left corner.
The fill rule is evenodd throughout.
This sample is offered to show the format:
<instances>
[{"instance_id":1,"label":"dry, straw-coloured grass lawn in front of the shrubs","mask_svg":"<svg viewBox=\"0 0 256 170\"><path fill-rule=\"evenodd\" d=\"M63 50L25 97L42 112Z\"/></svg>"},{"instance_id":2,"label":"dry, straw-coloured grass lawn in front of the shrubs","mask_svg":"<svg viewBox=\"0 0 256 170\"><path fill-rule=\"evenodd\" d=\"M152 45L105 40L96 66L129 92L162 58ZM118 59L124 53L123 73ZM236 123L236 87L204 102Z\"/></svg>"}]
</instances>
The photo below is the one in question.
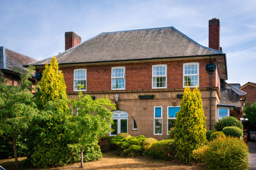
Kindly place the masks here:
<instances>
[{"instance_id":1,"label":"dry, straw-coloured grass lawn in front of the shrubs","mask_svg":"<svg viewBox=\"0 0 256 170\"><path fill-rule=\"evenodd\" d=\"M26 157L19 158L19 161ZM6 170L15 170L14 159L2 159L0 165ZM21 164L20 164L21 166ZM77 167L76 167L77 166ZM74 168L76 167L76 168ZM98 161L84 162L84 168L80 163L68 164L64 167L30 168L21 167L21 170L203 170L203 167L173 164L172 162L151 161L141 158L121 158L111 153L103 153L103 158Z\"/></svg>"}]
</instances>

